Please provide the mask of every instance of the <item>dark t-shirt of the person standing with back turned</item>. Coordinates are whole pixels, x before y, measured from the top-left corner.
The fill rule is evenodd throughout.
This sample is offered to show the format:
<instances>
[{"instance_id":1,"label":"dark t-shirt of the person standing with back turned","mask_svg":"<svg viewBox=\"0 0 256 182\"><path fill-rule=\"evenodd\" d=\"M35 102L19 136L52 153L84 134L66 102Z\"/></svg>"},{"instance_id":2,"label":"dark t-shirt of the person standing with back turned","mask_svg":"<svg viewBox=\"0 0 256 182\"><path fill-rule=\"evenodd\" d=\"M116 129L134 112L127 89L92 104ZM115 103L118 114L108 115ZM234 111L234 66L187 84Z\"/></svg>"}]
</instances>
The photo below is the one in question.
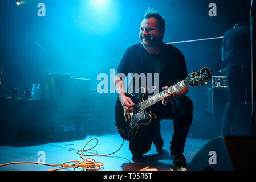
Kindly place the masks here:
<instances>
[{"instance_id":1,"label":"dark t-shirt of the person standing with back turned","mask_svg":"<svg viewBox=\"0 0 256 182\"><path fill-rule=\"evenodd\" d=\"M224 63L226 69L250 64L250 27L232 28L225 32L221 47L226 48Z\"/></svg>"}]
</instances>

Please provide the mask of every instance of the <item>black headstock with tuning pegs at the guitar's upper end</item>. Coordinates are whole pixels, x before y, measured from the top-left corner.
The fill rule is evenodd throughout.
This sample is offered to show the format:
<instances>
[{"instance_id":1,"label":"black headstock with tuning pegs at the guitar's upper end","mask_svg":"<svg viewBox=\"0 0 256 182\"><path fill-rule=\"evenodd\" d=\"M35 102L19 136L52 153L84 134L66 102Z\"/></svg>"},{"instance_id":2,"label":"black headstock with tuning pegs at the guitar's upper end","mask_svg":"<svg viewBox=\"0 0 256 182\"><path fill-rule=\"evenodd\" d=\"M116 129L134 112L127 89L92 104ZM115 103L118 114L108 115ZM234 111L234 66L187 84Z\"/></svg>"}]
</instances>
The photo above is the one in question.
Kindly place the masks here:
<instances>
[{"instance_id":1,"label":"black headstock with tuning pegs at the guitar's upper end","mask_svg":"<svg viewBox=\"0 0 256 182\"><path fill-rule=\"evenodd\" d=\"M202 82L205 82L205 84L208 84L208 80L212 77L212 71L210 71L209 68L205 67L200 69L197 72L192 72L191 74L186 77L184 80L185 85L190 85L190 86L196 86L201 83L201 85L204 85Z\"/></svg>"}]
</instances>

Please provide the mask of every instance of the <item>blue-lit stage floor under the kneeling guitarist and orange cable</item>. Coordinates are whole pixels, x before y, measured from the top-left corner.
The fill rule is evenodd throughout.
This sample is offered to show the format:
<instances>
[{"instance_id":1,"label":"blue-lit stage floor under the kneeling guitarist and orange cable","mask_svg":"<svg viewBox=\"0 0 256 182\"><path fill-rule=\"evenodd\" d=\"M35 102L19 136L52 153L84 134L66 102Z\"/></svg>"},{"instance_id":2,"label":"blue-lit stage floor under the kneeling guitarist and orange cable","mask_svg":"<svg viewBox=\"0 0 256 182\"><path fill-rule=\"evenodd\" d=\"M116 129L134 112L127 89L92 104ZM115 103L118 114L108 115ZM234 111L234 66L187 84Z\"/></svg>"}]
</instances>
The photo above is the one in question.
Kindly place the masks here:
<instances>
[{"instance_id":1,"label":"blue-lit stage floor under the kneeling guitarist and orange cable","mask_svg":"<svg viewBox=\"0 0 256 182\"><path fill-rule=\"evenodd\" d=\"M177 169L170 160L170 139L173 133L167 133L161 130L164 139L164 147L159 154L155 146L152 144L151 150L143 155L141 159L135 159L129 152L128 142L124 141L123 146L115 154L109 156L83 156L83 158L93 158L96 162L103 162L104 166L100 170L107 171L137 171L145 167L155 168L157 170ZM123 139L117 133L103 135L87 135L82 140L70 140L64 142L54 142L45 144L18 144L0 146L0 164L10 162L38 162L42 161L45 154L45 163L61 164L70 160L79 160L80 155L76 152L82 150L84 145L91 139L97 138L99 143L95 148L89 151L84 151L83 154L88 155L106 155L111 154L119 149ZM189 163L194 155L204 146L209 140L187 138L185 144L184 156ZM96 140L92 140L87 144L87 148L95 146ZM185 167L185 168L186 168ZM10 164L0 167L1 171L46 171L56 169L58 167L45 166L41 164ZM63 170L74 171L74 168L66 168ZM80 169L76 169L80 170Z\"/></svg>"}]
</instances>

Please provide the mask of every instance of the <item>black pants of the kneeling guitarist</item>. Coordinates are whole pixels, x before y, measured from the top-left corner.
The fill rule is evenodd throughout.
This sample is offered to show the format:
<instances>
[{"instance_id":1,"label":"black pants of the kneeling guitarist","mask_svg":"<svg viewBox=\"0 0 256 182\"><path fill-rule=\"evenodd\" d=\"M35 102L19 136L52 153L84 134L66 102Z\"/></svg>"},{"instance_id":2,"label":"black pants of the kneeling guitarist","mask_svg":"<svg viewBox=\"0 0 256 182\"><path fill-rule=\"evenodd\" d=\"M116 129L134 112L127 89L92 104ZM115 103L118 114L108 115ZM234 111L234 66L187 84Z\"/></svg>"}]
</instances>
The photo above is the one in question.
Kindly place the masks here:
<instances>
[{"instance_id":1,"label":"black pants of the kneeling guitarist","mask_svg":"<svg viewBox=\"0 0 256 182\"><path fill-rule=\"evenodd\" d=\"M193 102L187 96L167 106L162 105L161 101L159 101L159 103L151 107L151 111L156 115L156 122L142 126L138 131L138 137L129 142L129 149L132 155L140 157L151 149L155 126L162 119L173 119L174 134L170 142L170 151L173 155L182 154L186 136L192 123Z\"/></svg>"}]
</instances>

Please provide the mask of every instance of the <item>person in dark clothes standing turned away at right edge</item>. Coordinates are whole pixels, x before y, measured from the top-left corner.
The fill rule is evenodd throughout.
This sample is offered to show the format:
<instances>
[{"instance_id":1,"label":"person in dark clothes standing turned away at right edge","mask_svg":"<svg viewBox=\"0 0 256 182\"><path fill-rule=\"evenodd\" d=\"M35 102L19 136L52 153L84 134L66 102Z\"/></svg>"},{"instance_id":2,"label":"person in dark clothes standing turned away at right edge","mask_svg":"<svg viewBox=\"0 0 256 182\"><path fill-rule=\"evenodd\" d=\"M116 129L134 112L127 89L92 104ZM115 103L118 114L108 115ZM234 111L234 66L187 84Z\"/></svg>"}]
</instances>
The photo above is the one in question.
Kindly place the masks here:
<instances>
[{"instance_id":1,"label":"person in dark clothes standing turned away at right edge","mask_svg":"<svg viewBox=\"0 0 256 182\"><path fill-rule=\"evenodd\" d=\"M230 135L235 108L251 97L250 27L235 24L222 38L222 61L226 67L229 100L222 118L221 135Z\"/></svg>"}]
</instances>

